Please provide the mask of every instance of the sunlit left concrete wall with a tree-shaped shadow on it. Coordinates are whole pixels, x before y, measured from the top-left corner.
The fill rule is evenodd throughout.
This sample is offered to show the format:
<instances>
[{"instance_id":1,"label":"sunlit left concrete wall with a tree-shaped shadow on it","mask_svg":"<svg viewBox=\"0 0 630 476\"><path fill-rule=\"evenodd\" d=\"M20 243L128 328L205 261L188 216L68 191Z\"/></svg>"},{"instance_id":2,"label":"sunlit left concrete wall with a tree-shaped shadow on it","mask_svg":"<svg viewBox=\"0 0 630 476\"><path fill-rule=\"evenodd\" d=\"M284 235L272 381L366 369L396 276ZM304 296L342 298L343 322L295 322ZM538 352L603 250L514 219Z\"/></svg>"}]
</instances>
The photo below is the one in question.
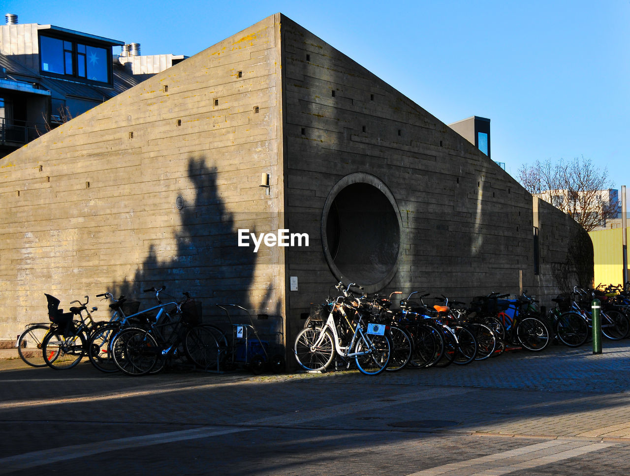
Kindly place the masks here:
<instances>
[{"instance_id":1,"label":"sunlit left concrete wall with a tree-shaped shadow on it","mask_svg":"<svg viewBox=\"0 0 630 476\"><path fill-rule=\"evenodd\" d=\"M284 314L280 252L237 246L239 228L266 232L282 219L277 20L2 159L0 339L47 321L45 292L67 309L84 295L140 298L166 284L202 298L205 312L227 300Z\"/></svg>"}]
</instances>

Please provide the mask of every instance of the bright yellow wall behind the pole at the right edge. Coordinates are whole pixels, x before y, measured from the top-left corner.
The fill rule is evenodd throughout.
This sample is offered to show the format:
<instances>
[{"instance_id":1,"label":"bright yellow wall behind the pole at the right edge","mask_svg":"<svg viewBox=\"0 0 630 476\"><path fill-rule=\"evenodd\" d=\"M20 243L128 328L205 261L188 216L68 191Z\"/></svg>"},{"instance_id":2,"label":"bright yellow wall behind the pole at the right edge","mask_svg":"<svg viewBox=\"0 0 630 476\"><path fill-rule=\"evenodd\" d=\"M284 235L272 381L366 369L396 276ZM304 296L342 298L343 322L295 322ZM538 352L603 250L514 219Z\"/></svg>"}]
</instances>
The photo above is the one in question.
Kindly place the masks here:
<instances>
[{"instance_id":1,"label":"bright yellow wall behind the pole at the right edge","mask_svg":"<svg viewBox=\"0 0 630 476\"><path fill-rule=\"evenodd\" d=\"M597 230L588 233L593 241L595 286L599 283L621 284L623 281L623 255L621 228Z\"/></svg>"}]
</instances>

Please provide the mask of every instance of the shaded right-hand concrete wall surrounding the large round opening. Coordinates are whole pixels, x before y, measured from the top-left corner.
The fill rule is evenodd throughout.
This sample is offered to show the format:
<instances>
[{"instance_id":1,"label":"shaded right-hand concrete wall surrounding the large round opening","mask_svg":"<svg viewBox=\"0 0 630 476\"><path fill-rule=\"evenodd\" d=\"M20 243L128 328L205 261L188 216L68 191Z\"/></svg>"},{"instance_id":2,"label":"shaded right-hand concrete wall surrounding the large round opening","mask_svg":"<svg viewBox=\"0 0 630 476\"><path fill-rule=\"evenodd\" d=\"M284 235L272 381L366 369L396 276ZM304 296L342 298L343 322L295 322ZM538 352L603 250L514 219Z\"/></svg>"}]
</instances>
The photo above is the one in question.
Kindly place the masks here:
<instances>
[{"instance_id":1,"label":"shaded right-hand concrete wall surrounding the large round opening","mask_svg":"<svg viewBox=\"0 0 630 476\"><path fill-rule=\"evenodd\" d=\"M553 207L539 208L544 223L540 254L547 261L542 274L536 274L532 196L515 179L309 31L283 18L282 33L287 215L292 229L316 237L309 249L289 249L287 255L287 273L301 283L289 292L288 320L294 330L301 327L309 303L323 300L340 279L383 294L420 291L466 300L526 289L544 298L556 295L549 269L551 261L564 260L568 236L580 230L573 220ZM372 280L377 283L361 269L335 269L322 252L327 202L355 182L352 177L386 191L399 219L399 234L364 246L384 224L396 224L364 209L365 193L352 192L354 211L362 220L345 238L363 252L364 263L376 266L383 259L370 247L399 247L393 274L382 273ZM352 220L350 215L345 219Z\"/></svg>"}]
</instances>

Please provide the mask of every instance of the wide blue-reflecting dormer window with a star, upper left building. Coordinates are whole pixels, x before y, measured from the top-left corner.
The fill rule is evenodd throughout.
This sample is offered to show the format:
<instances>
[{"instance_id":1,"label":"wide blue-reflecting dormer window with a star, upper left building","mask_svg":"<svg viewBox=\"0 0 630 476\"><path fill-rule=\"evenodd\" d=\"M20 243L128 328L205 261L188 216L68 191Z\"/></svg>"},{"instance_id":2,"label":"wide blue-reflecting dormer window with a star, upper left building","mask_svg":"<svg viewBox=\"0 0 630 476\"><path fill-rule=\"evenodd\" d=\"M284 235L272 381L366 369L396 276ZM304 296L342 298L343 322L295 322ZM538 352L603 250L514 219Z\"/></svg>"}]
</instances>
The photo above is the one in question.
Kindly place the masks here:
<instances>
[{"instance_id":1,"label":"wide blue-reflecting dormer window with a star, upper left building","mask_svg":"<svg viewBox=\"0 0 630 476\"><path fill-rule=\"evenodd\" d=\"M40 35L40 69L44 74L110 82L111 54L107 48Z\"/></svg>"}]
</instances>

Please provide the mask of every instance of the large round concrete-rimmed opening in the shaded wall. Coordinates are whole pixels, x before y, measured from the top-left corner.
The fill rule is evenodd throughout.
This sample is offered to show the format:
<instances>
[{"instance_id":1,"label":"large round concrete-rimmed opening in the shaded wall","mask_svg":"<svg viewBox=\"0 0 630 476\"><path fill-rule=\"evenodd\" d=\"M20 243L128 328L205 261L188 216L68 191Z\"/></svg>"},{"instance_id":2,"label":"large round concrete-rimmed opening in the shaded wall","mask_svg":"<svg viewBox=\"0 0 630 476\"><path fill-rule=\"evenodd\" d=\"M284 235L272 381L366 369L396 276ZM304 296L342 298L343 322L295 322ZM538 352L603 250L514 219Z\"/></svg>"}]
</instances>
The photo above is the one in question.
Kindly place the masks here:
<instances>
[{"instance_id":1,"label":"large round concrete-rimmed opening in the shaded wall","mask_svg":"<svg viewBox=\"0 0 630 476\"><path fill-rule=\"evenodd\" d=\"M328 195L322 216L324 255L346 285L376 292L396 274L401 220L391 191L370 174L350 174Z\"/></svg>"}]
</instances>

